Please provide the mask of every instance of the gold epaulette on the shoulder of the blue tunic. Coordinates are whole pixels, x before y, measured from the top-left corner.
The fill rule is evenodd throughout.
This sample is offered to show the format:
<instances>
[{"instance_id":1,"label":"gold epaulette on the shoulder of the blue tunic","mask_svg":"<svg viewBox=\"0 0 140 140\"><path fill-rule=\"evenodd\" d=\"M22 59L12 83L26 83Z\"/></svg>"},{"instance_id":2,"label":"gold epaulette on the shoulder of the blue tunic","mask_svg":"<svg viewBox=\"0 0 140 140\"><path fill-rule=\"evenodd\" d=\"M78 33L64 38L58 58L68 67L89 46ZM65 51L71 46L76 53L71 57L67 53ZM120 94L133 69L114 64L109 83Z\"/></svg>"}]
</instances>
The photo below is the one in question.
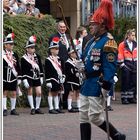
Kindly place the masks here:
<instances>
[{"instance_id":1,"label":"gold epaulette on the shoulder of the blue tunic","mask_svg":"<svg viewBox=\"0 0 140 140\"><path fill-rule=\"evenodd\" d=\"M112 39L109 38L109 40L104 45L103 51L104 52L114 52L114 53L117 53L118 49L117 49L116 41L113 38Z\"/></svg>"}]
</instances>

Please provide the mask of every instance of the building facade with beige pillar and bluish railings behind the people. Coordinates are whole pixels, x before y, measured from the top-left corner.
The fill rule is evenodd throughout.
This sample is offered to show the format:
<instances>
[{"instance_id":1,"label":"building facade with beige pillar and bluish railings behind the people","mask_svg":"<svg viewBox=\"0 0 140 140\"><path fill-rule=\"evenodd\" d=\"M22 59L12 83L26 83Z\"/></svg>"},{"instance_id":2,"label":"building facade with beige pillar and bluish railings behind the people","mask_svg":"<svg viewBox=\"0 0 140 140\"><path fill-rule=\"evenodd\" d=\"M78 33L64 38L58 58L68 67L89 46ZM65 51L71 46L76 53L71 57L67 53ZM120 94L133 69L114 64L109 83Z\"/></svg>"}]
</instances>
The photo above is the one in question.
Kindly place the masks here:
<instances>
[{"instance_id":1,"label":"building facade with beige pillar and bluish railings behind the people","mask_svg":"<svg viewBox=\"0 0 140 140\"><path fill-rule=\"evenodd\" d=\"M88 17L99 6L101 0L59 0L71 34L74 37L76 29L85 25ZM112 0L114 5L114 17L136 17L137 0ZM41 12L51 14L56 19L62 19L62 14L56 0L36 0L36 5Z\"/></svg>"}]
</instances>

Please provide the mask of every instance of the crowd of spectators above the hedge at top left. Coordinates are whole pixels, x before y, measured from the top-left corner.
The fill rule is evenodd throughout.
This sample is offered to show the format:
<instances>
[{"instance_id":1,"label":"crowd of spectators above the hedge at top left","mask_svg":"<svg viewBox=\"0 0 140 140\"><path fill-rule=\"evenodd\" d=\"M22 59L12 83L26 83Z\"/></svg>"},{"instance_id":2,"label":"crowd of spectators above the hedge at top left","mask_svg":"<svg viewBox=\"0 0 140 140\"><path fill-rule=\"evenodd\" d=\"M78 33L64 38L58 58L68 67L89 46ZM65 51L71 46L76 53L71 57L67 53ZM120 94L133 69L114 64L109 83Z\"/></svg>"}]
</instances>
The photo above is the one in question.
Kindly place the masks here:
<instances>
[{"instance_id":1,"label":"crowd of spectators above the hedge at top left","mask_svg":"<svg viewBox=\"0 0 140 140\"><path fill-rule=\"evenodd\" d=\"M3 14L6 13L40 17L40 11L35 7L35 0L3 0Z\"/></svg>"}]
</instances>

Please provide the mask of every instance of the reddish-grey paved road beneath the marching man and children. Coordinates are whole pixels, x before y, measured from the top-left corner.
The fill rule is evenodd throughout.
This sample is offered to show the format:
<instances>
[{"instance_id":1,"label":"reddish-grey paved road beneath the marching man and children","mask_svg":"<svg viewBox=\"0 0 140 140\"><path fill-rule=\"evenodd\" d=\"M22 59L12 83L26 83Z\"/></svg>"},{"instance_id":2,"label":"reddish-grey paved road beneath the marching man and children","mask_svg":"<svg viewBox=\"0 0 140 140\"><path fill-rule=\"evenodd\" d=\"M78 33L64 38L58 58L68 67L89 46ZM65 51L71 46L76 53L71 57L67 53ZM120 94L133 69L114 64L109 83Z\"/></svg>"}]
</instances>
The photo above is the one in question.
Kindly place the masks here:
<instances>
[{"instance_id":1,"label":"reddish-grey paved road beneath the marching man and children","mask_svg":"<svg viewBox=\"0 0 140 140\"><path fill-rule=\"evenodd\" d=\"M120 99L112 102L114 111L109 112L110 121L127 136L137 139L136 104L122 105ZM19 116L3 118L3 140L80 140L79 113L30 115L29 108L18 108ZM106 140L107 136L92 126L92 140Z\"/></svg>"}]
</instances>

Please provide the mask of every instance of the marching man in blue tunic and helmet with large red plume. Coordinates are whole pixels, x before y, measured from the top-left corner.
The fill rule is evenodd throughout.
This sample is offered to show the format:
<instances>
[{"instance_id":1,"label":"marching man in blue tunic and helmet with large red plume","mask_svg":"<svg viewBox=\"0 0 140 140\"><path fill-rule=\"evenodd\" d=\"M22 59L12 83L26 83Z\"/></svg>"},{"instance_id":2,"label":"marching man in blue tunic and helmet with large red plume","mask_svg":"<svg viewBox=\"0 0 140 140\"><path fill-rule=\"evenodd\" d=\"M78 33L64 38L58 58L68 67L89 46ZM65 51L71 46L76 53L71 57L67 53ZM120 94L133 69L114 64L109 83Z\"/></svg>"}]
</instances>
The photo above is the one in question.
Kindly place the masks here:
<instances>
[{"instance_id":1,"label":"marching man in blue tunic and helmet with large red plume","mask_svg":"<svg viewBox=\"0 0 140 140\"><path fill-rule=\"evenodd\" d=\"M83 51L86 80L80 91L81 140L91 140L91 123L107 132L112 140L125 140L103 116L103 102L113 84L117 66L117 44L108 32L114 27L111 0L102 0L90 20L92 38Z\"/></svg>"}]
</instances>

